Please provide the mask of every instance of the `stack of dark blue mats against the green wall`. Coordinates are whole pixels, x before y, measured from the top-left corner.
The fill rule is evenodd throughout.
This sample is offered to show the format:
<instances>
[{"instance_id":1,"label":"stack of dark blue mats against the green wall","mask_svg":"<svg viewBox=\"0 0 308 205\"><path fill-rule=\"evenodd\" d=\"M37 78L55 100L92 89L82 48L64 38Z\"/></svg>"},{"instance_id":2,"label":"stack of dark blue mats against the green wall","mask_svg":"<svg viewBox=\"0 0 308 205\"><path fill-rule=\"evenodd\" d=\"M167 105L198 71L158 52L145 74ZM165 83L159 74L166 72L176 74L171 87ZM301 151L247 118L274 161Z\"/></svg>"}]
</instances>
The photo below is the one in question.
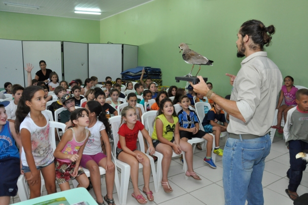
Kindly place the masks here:
<instances>
[{"instance_id":1,"label":"stack of dark blue mats against the green wall","mask_svg":"<svg viewBox=\"0 0 308 205\"><path fill-rule=\"evenodd\" d=\"M123 75L123 81L136 81L139 80L142 74L142 69L144 68L145 74L143 75L143 79L146 77L151 77L152 79L162 79L161 69L160 68L151 68L148 66L138 66L136 68L131 68L126 71L123 71L121 75Z\"/></svg>"}]
</instances>

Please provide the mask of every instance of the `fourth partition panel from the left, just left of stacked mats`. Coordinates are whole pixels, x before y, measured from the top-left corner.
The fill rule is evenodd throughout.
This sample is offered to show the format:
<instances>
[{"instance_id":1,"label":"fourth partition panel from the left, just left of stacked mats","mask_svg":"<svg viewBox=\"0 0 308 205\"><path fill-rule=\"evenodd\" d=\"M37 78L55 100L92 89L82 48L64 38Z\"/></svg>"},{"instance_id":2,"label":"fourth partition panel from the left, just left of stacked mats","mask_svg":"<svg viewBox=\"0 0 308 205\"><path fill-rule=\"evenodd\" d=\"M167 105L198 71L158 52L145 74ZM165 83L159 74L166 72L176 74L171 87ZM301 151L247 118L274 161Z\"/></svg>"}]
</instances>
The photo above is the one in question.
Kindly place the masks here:
<instances>
[{"instance_id":1,"label":"fourth partition panel from the left, just left of stacked mats","mask_svg":"<svg viewBox=\"0 0 308 205\"><path fill-rule=\"evenodd\" d=\"M112 80L121 78L122 44L89 43L89 76L96 76L104 82L107 76Z\"/></svg>"}]
</instances>

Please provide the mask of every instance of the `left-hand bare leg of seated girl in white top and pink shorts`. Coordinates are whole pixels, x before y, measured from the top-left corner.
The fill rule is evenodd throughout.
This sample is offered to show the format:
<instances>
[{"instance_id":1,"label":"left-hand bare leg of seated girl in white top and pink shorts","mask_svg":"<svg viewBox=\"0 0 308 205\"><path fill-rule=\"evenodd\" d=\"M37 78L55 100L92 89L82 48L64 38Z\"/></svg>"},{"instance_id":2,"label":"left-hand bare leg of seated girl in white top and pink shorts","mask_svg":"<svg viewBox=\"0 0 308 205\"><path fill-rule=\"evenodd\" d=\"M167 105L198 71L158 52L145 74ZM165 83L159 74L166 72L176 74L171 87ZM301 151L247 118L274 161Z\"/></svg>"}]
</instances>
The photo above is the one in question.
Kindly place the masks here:
<instances>
[{"instance_id":1,"label":"left-hand bare leg of seated girl in white top and pink shorts","mask_svg":"<svg viewBox=\"0 0 308 205\"><path fill-rule=\"evenodd\" d=\"M89 160L86 164L86 168L89 169L90 171L91 183L93 186L94 194L96 196L96 201L99 203L103 203L102 190L101 190L101 174L100 174L99 165L96 164L94 160Z\"/></svg>"}]
</instances>

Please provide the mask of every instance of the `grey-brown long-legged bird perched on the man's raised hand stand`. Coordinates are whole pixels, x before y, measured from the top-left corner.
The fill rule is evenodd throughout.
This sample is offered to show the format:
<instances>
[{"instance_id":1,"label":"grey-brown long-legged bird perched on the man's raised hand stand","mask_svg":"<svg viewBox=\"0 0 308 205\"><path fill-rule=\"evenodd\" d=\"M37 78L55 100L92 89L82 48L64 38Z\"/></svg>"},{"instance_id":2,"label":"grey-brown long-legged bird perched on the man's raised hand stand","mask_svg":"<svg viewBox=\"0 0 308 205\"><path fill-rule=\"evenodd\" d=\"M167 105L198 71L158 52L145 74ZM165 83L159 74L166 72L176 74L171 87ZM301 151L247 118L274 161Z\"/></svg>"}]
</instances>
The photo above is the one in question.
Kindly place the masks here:
<instances>
[{"instance_id":1,"label":"grey-brown long-legged bird perched on the man's raised hand stand","mask_svg":"<svg viewBox=\"0 0 308 205\"><path fill-rule=\"evenodd\" d=\"M187 74L187 77L192 77L191 72L194 69L195 65L199 65L199 71L201 69L201 65L209 65L212 66L212 63L214 61L208 60L205 56L200 55L199 53L189 49L188 45L185 43L181 43L179 46L180 52L183 50L183 60L188 64L193 64L193 67L191 68L191 71L189 74ZM198 75L199 71L197 72L196 76Z\"/></svg>"}]
</instances>

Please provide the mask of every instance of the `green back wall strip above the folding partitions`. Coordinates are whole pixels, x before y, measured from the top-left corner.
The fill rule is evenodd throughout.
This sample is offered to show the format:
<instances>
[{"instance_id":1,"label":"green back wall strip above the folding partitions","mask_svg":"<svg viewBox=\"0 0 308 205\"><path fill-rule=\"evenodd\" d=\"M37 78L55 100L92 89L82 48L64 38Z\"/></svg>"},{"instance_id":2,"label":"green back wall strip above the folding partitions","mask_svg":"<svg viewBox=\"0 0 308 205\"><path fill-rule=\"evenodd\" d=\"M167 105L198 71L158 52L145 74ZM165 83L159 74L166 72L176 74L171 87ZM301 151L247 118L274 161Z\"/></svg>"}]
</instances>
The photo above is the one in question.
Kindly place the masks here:
<instances>
[{"instance_id":1,"label":"green back wall strip above the folding partitions","mask_svg":"<svg viewBox=\"0 0 308 205\"><path fill-rule=\"evenodd\" d=\"M100 21L0 11L0 39L100 42Z\"/></svg>"}]
</instances>

